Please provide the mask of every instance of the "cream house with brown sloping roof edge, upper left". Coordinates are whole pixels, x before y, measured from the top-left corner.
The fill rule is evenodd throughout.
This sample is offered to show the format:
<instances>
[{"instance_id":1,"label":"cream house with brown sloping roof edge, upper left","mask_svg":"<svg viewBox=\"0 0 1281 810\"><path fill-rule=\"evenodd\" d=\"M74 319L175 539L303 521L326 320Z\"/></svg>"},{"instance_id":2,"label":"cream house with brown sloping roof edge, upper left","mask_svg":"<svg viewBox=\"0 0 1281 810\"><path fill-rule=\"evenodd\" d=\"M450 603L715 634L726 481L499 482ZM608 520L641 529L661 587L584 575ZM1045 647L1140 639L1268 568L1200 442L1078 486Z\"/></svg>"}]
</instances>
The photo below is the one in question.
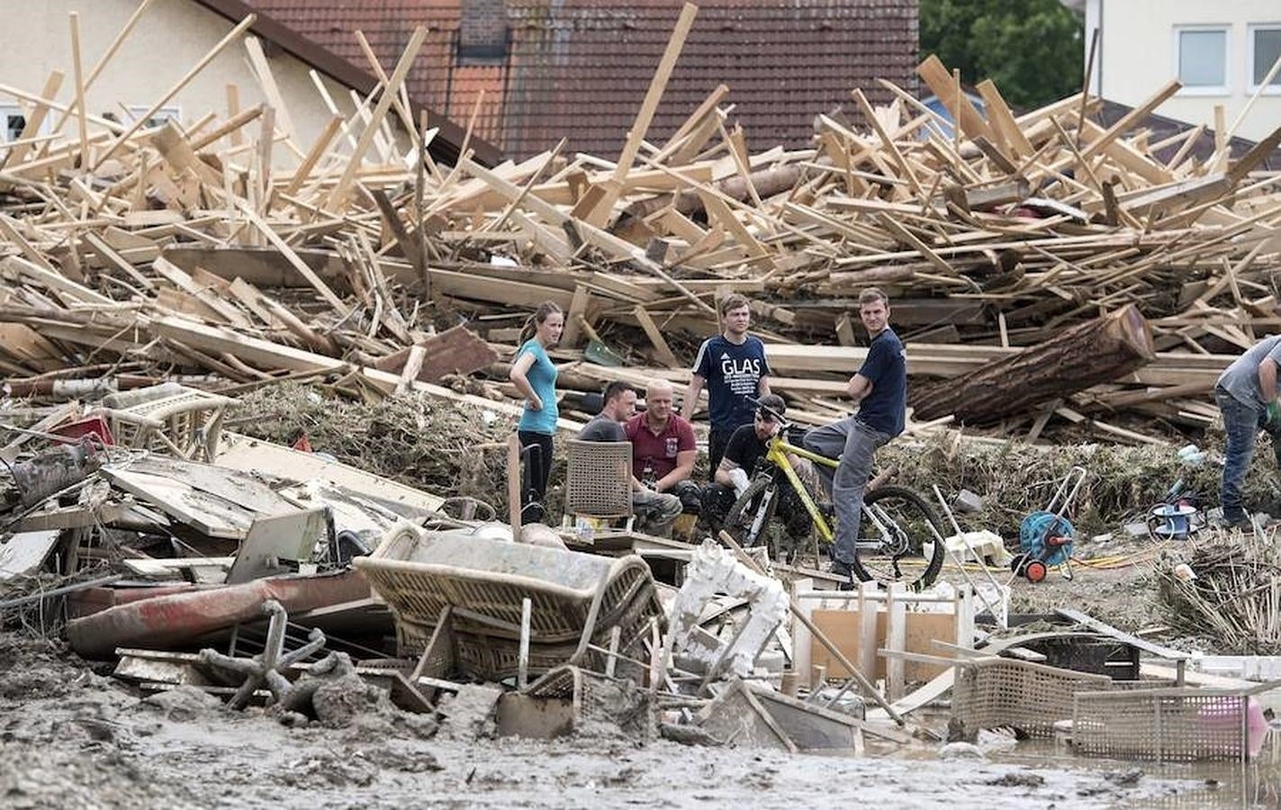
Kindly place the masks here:
<instances>
[{"instance_id":1,"label":"cream house with brown sloping roof edge, upper left","mask_svg":"<svg viewBox=\"0 0 1281 810\"><path fill-rule=\"evenodd\" d=\"M87 83L138 9L141 12L132 31L85 92L91 133L108 126L101 123L105 120L132 123L137 117L149 115L150 124L172 118L182 126L191 126L210 113L222 119L232 114L233 108L243 110L269 104L264 82L256 76L246 47L246 38L254 37L261 47L263 63L269 69L279 106L283 108L275 110L277 132L288 136L288 142L273 150L273 163L278 168L291 168L297 165L300 153L305 154L328 126L334 110L350 118L356 109L354 99L363 97L377 83L371 73L238 0L6 3L5 31L10 36L6 47L0 51L0 85L9 90L0 88L0 144L13 141L22 133L33 101L41 97L45 87L56 85L51 100L60 108L53 108L53 114L46 117L36 137L54 135L53 127L63 118L58 110L76 99L70 35L73 12L78 15L81 74ZM250 14L257 14L257 19L245 35L219 51L170 100L152 110ZM60 82L56 81L58 74ZM389 119L396 144L387 144L387 153L395 149L405 154L409 149L407 133L398 128L400 122L395 117ZM452 163L462 129L439 117L432 123L441 126L441 133L433 141L434 155ZM63 123L60 132L74 136L76 128L77 122L70 118ZM359 136L360 129L354 133ZM256 129L246 132L247 138L255 136ZM493 163L498 158L497 150L483 141L474 141L473 146L483 163Z\"/></svg>"}]
</instances>

